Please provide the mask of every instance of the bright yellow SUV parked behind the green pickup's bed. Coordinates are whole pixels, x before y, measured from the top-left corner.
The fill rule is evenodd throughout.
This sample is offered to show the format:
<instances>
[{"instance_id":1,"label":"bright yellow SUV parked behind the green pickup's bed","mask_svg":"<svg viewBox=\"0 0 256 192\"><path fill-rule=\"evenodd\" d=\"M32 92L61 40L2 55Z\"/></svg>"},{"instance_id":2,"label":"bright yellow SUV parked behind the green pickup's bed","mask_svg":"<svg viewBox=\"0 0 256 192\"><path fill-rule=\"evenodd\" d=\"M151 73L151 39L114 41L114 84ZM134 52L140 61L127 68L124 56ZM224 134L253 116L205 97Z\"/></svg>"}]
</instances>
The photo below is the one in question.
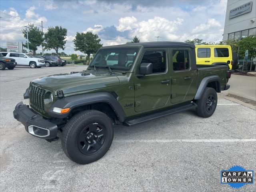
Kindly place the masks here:
<instances>
[{"instance_id":1,"label":"bright yellow SUV parked behind the green pickup's bed","mask_svg":"<svg viewBox=\"0 0 256 192\"><path fill-rule=\"evenodd\" d=\"M196 45L196 64L227 65L232 69L233 59L237 60L229 45Z\"/></svg>"}]
</instances>

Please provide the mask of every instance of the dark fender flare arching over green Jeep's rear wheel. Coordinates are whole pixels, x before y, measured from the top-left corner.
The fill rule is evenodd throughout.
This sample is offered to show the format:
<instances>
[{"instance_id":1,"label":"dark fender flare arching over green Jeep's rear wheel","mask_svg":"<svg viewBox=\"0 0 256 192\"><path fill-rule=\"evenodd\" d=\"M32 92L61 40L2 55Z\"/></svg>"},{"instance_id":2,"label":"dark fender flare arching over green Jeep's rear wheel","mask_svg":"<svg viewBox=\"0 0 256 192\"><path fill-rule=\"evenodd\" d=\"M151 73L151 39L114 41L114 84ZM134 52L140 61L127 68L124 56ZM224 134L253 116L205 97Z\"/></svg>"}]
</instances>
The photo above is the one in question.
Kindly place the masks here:
<instances>
[{"instance_id":1,"label":"dark fender flare arching over green Jeep's rear wheel","mask_svg":"<svg viewBox=\"0 0 256 192\"><path fill-rule=\"evenodd\" d=\"M217 81L217 92L220 92L220 78L219 78L219 76L211 75L211 76L208 76L208 77L205 77L205 78L202 79L194 99L195 100L200 99L203 92L204 92L204 89L207 86L207 84L210 83L210 82L215 82L215 81Z\"/></svg>"}]
</instances>

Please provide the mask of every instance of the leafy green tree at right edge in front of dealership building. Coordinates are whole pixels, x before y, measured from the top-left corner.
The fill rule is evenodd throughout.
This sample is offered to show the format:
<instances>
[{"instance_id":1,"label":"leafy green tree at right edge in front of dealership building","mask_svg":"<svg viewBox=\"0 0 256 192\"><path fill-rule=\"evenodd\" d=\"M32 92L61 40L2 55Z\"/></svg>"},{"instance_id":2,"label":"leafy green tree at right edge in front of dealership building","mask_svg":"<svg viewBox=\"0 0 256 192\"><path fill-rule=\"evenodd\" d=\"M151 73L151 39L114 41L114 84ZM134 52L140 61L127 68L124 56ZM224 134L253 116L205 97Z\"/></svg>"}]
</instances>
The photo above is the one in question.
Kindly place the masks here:
<instances>
[{"instance_id":1,"label":"leafy green tree at right edge in front of dealership building","mask_svg":"<svg viewBox=\"0 0 256 192\"><path fill-rule=\"evenodd\" d=\"M244 58L245 51L248 50L248 58L256 58L256 36L242 38L239 42L239 56Z\"/></svg>"}]
</instances>

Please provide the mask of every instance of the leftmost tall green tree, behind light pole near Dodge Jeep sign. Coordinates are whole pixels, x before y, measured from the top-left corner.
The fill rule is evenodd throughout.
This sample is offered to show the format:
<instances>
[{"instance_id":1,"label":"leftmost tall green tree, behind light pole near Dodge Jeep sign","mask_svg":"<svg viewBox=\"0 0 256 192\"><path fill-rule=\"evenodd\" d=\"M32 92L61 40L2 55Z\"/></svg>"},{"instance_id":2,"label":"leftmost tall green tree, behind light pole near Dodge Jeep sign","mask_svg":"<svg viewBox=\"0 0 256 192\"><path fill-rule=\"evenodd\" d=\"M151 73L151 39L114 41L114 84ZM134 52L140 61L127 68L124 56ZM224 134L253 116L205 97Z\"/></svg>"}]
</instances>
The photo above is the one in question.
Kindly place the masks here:
<instances>
[{"instance_id":1,"label":"leftmost tall green tree, behind light pole near Dodge Jeep sign","mask_svg":"<svg viewBox=\"0 0 256 192\"><path fill-rule=\"evenodd\" d=\"M22 29L24 38L27 38L27 30ZM28 24L28 42L25 46L29 46L29 49L36 54L37 47L40 46L44 41L44 33L34 24ZM28 50L29 51L29 50Z\"/></svg>"}]
</instances>

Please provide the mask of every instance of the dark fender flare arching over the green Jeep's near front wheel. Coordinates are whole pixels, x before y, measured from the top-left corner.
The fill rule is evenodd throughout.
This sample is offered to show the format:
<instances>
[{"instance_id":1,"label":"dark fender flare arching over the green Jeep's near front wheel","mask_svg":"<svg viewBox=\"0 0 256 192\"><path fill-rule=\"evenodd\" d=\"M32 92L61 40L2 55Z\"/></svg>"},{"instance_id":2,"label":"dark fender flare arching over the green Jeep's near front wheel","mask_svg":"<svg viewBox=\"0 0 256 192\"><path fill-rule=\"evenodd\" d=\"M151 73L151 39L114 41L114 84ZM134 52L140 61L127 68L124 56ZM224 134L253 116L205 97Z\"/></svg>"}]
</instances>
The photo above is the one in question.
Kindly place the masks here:
<instances>
[{"instance_id":1,"label":"dark fender flare arching over the green Jeep's near front wheel","mask_svg":"<svg viewBox=\"0 0 256 192\"><path fill-rule=\"evenodd\" d=\"M126 115L124 113L124 110L122 109L119 102L116 100L116 98L109 92L97 92L97 93L88 93L88 94L81 94L81 95L75 95L75 96L69 96L64 97L62 99L58 99L49 110L49 115L56 117L56 118L65 118L68 116L69 113L66 114L57 114L52 111L54 107L58 108L71 108L72 109L84 106L88 104L94 104L94 103L107 103L109 104L114 112L116 113L116 116L120 120L120 122L123 122L126 118Z\"/></svg>"}]
</instances>

